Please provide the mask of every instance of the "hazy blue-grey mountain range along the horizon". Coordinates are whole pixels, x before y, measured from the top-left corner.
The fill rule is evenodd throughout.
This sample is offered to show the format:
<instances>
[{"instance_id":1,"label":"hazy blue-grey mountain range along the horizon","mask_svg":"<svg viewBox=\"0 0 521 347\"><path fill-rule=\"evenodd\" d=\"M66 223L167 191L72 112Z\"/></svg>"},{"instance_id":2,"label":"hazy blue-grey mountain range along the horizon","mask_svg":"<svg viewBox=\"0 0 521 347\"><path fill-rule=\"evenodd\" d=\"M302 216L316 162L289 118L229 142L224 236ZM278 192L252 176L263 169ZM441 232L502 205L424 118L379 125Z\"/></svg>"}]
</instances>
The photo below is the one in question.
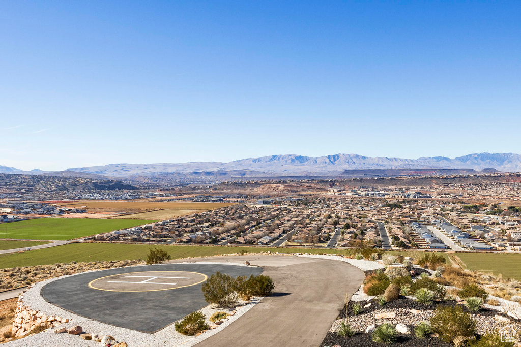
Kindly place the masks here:
<instances>
[{"instance_id":1,"label":"hazy blue-grey mountain range along the horizon","mask_svg":"<svg viewBox=\"0 0 521 347\"><path fill-rule=\"evenodd\" d=\"M476 153L458 158L432 157L418 159L371 158L356 154L338 154L324 157L276 155L224 162L188 162L156 164L108 164L71 168L60 172L103 175L107 177L135 176L217 176L217 177L270 177L270 176L331 176L351 175L353 170L406 170L408 174L419 169L472 169L476 171L521 172L521 156L514 153ZM413 170L413 171L411 171ZM72 172L71 172L72 171ZM44 173L40 170L21 171L0 166L0 173ZM440 172L441 173L441 172ZM470 173L470 172L468 172ZM64 174L65 175L65 174Z\"/></svg>"}]
</instances>

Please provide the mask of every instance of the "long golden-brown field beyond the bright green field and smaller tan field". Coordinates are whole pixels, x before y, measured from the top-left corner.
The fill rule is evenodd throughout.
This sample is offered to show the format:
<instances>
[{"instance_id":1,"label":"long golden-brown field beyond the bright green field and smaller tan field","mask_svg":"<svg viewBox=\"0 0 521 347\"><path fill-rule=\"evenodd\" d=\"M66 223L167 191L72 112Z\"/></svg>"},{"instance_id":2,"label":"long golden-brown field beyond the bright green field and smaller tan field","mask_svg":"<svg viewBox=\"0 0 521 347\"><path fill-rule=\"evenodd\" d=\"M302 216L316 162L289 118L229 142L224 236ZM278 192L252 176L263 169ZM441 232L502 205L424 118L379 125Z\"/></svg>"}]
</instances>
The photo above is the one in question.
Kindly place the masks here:
<instances>
[{"instance_id":1,"label":"long golden-brown field beyond the bright green field and smaller tan field","mask_svg":"<svg viewBox=\"0 0 521 347\"><path fill-rule=\"evenodd\" d=\"M82 208L89 213L135 214L157 210L215 210L233 205L225 202L154 202L154 201L69 201L62 207Z\"/></svg>"}]
</instances>

